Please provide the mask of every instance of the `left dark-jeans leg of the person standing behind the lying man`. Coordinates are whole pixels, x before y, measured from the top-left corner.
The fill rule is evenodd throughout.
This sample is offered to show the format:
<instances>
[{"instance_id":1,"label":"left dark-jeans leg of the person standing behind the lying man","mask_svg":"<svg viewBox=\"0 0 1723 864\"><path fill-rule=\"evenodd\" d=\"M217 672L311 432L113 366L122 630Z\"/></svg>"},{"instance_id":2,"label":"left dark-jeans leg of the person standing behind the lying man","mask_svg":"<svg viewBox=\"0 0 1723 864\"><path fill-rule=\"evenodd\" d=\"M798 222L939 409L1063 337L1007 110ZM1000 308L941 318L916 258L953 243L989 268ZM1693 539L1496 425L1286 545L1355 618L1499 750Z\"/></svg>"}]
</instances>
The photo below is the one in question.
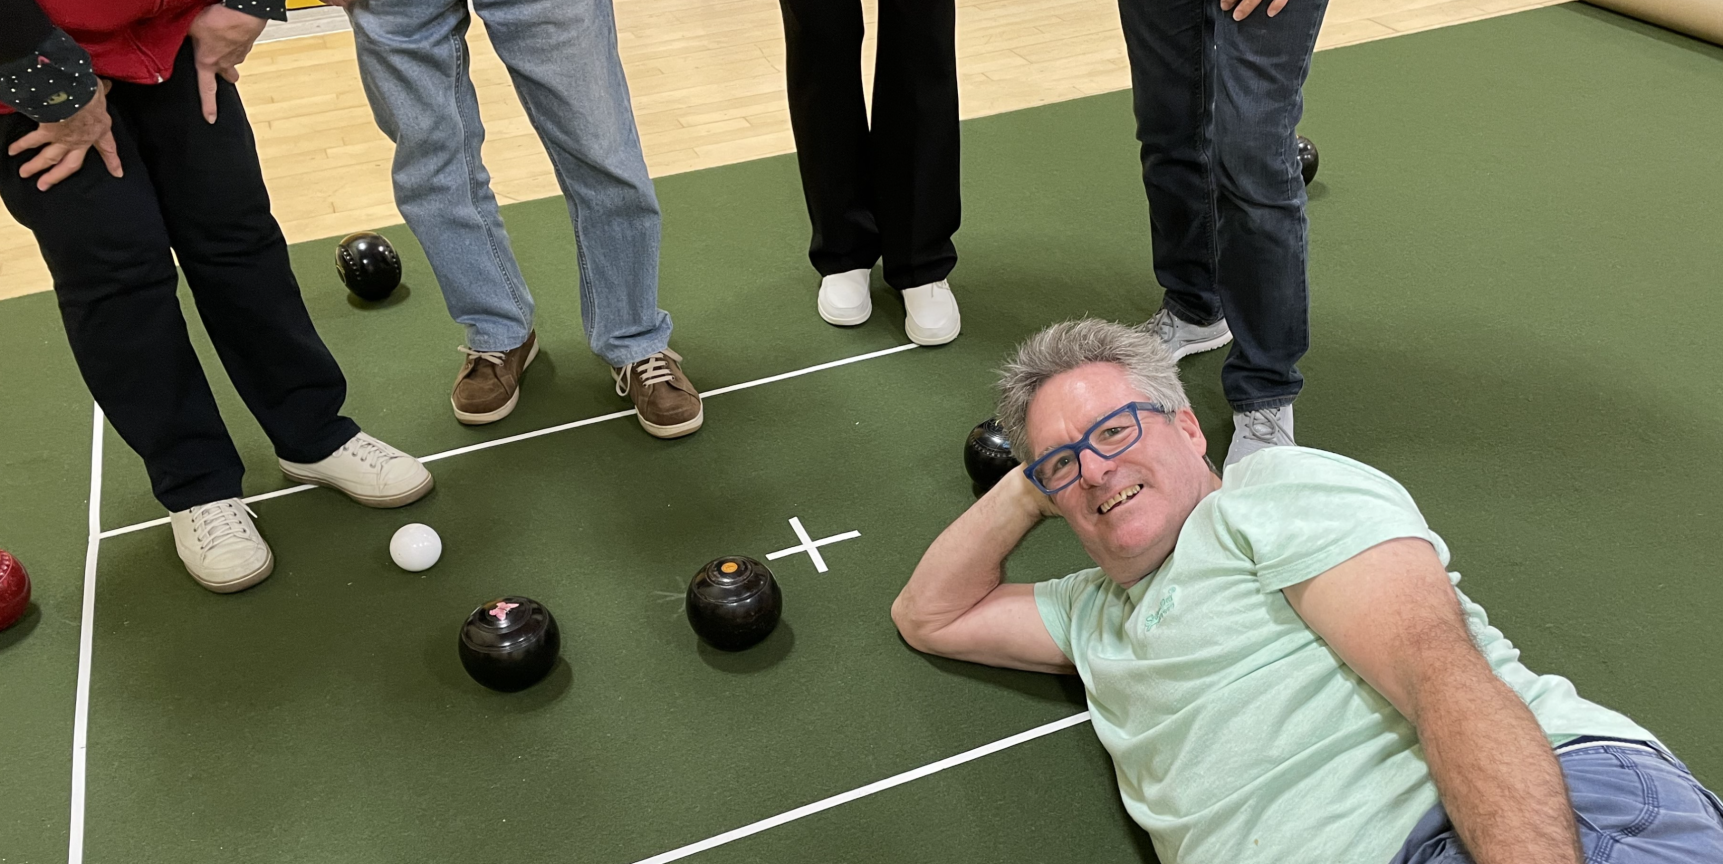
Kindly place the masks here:
<instances>
[{"instance_id":1,"label":"left dark-jeans leg of the person standing behind the lying man","mask_svg":"<svg viewBox=\"0 0 1723 864\"><path fill-rule=\"evenodd\" d=\"M1216 324L1213 0L1118 0L1154 278L1180 321ZM1218 347L1225 341L1220 341Z\"/></svg>"}]
</instances>

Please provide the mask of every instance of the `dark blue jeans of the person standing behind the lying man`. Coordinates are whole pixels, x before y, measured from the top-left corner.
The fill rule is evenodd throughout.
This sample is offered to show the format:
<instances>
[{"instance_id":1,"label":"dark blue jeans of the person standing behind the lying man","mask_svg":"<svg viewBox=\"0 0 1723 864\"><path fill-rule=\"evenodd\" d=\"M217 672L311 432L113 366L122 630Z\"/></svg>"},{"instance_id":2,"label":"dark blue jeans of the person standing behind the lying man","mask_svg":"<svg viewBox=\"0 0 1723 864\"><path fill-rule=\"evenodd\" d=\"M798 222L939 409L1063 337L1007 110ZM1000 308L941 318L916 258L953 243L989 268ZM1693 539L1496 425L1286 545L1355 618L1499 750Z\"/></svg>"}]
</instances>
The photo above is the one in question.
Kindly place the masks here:
<instances>
[{"instance_id":1,"label":"dark blue jeans of the person standing behind the lying man","mask_svg":"<svg viewBox=\"0 0 1723 864\"><path fill-rule=\"evenodd\" d=\"M1291 404L1309 348L1308 222L1296 129L1327 0L1118 0L1154 276L1192 324L1227 319L1234 410Z\"/></svg>"}]
</instances>

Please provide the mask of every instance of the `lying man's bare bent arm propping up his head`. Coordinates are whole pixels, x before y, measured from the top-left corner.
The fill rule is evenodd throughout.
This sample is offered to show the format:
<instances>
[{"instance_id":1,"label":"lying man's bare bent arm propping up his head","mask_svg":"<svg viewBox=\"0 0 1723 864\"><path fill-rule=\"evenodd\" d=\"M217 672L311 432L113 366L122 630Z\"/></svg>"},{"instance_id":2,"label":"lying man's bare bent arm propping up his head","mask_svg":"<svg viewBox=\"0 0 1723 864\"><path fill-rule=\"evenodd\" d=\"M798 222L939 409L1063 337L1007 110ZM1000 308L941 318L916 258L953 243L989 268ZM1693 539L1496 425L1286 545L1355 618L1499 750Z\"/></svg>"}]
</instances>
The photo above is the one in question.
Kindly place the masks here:
<instances>
[{"instance_id":1,"label":"lying man's bare bent arm propping up his head","mask_svg":"<svg viewBox=\"0 0 1723 864\"><path fill-rule=\"evenodd\" d=\"M1005 559L1044 517L1041 491L1011 471L927 547L891 619L915 650L1036 673L1073 667L1048 633L1034 585L1006 585Z\"/></svg>"}]
</instances>

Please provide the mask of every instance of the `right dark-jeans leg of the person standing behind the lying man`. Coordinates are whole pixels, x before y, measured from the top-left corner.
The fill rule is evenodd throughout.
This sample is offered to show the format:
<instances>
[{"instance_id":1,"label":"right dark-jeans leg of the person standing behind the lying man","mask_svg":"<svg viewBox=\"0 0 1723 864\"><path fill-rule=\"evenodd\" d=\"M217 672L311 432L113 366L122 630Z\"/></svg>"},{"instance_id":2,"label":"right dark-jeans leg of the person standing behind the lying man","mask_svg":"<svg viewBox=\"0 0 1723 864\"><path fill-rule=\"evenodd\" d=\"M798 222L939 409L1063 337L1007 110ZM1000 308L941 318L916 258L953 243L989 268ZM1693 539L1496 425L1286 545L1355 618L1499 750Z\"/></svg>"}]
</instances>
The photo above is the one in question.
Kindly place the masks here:
<instances>
[{"instance_id":1,"label":"right dark-jeans leg of the person standing behind the lying man","mask_svg":"<svg viewBox=\"0 0 1723 864\"><path fill-rule=\"evenodd\" d=\"M1309 243L1297 121L1327 0L1215 28L1216 276L1232 329L1222 369L1235 412L1291 405L1309 348ZM1291 421L1289 421L1291 423ZM1291 429L1287 429L1291 433Z\"/></svg>"}]
</instances>

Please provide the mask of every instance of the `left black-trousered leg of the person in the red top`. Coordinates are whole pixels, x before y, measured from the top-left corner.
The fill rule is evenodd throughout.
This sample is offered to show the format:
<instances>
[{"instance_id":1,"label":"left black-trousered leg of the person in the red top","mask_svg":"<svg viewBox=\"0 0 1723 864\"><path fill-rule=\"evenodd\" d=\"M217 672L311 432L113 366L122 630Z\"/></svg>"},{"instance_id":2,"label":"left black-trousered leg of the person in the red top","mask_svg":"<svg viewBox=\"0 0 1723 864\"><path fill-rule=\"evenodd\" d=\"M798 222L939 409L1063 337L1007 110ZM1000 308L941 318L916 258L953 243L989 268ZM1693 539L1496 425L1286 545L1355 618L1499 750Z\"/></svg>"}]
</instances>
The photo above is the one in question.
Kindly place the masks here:
<instances>
[{"instance_id":1,"label":"left black-trousered leg of the person in the red top","mask_svg":"<svg viewBox=\"0 0 1723 864\"><path fill-rule=\"evenodd\" d=\"M167 226L133 129L115 109L138 90L145 88L121 83L109 91L124 178L109 176L91 157L60 185L38 191L34 179L17 176L34 155L29 150L0 160L0 197L36 235L90 393L143 457L162 507L188 510L236 498L245 466L191 350ZM9 147L34 128L7 114L0 143Z\"/></svg>"}]
</instances>

